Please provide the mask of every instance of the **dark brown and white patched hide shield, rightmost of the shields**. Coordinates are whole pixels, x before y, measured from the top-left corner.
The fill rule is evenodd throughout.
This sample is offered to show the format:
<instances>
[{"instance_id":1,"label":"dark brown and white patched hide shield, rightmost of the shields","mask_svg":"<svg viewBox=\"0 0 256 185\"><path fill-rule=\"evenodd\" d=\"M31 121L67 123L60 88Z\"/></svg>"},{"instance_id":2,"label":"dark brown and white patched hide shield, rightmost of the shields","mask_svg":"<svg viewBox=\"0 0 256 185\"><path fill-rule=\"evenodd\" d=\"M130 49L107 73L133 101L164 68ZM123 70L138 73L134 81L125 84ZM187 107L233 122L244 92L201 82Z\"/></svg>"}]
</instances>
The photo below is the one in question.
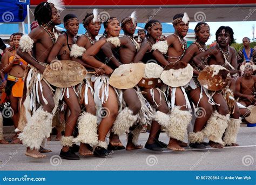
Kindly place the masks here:
<instances>
[{"instance_id":1,"label":"dark brown and white patched hide shield, rightmost of the shields","mask_svg":"<svg viewBox=\"0 0 256 185\"><path fill-rule=\"evenodd\" d=\"M230 72L223 66L210 65L205 67L198 76L200 84L211 91L219 91L228 85Z\"/></svg>"}]
</instances>

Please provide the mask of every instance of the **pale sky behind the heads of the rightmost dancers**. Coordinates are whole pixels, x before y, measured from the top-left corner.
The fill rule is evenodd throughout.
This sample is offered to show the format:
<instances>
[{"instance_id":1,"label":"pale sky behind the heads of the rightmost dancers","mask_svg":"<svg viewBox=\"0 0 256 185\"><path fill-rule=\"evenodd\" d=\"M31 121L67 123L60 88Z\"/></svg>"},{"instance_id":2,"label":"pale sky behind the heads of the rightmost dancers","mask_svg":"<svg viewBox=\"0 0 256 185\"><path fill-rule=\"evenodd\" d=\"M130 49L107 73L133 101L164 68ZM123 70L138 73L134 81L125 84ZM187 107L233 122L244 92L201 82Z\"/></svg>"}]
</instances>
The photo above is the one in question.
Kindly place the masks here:
<instances>
[{"instance_id":1,"label":"pale sky behind the heads of the rightmost dancers","mask_svg":"<svg viewBox=\"0 0 256 185\"><path fill-rule=\"evenodd\" d=\"M220 26L230 26L234 31L234 38L236 38L237 43L242 43L242 38L248 37L252 42L252 25L256 26L256 21L243 21L243 22L207 22L210 26L211 37L206 44L211 44L215 40L215 32ZM190 23L189 28L194 29L197 23ZM256 28L254 37L256 37ZM256 39L255 39L256 42Z\"/></svg>"}]
</instances>

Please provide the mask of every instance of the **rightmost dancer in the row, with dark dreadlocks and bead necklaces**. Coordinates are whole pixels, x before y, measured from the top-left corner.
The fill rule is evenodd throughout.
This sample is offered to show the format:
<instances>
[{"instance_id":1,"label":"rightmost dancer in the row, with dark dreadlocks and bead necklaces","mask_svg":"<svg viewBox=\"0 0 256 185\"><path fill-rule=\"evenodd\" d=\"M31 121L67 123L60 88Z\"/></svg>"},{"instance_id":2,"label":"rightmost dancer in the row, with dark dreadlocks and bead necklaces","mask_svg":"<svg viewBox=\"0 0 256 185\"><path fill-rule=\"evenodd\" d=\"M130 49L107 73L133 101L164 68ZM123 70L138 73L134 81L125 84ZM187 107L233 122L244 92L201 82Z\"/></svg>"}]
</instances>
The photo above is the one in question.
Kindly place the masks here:
<instances>
[{"instance_id":1,"label":"rightmost dancer in the row, with dark dreadlocks and bead necklaces","mask_svg":"<svg viewBox=\"0 0 256 185\"><path fill-rule=\"evenodd\" d=\"M233 47L230 47L231 43L234 40L233 35L233 30L230 27L220 26L220 28L215 33L217 45L194 57L194 63L196 63L198 67L203 69L205 65L200 64L201 58L207 57L208 65L215 64L224 66L227 68L227 70L230 71L231 77L237 76L237 52ZM210 145L215 145L218 148L222 148L224 145L238 146L235 141L237 139L237 133L241 123L241 118L239 118L240 111L237 102L235 102L235 99L230 99L233 93L229 88L234 92L235 80L233 78L231 79L229 87L225 88L221 92L216 92L213 95L214 101L219 104L219 106L215 106L217 111L214 113L213 116L219 119L218 122L223 122L221 127L218 127L219 133L223 133L223 129L226 129L224 142L220 139L217 139L218 141L213 141L213 143L210 139ZM228 100L226 98L226 95L224 97L223 94L228 95ZM214 121L215 119L211 120L215 122L215 124L218 124L216 121ZM208 128L210 131L210 126ZM211 129L216 128L212 127ZM220 135L222 136L222 134Z\"/></svg>"}]
</instances>

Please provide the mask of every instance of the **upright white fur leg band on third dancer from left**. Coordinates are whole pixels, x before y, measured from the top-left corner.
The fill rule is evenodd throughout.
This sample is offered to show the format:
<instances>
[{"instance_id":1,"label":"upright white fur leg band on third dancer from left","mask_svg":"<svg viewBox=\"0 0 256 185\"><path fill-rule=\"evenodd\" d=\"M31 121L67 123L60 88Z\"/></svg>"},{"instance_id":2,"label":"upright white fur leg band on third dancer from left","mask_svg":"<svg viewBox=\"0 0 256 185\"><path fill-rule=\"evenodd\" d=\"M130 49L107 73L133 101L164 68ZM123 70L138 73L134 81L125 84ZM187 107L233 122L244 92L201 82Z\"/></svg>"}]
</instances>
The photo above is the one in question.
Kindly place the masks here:
<instances>
[{"instance_id":1,"label":"upright white fur leg band on third dancer from left","mask_svg":"<svg viewBox=\"0 0 256 185\"><path fill-rule=\"evenodd\" d=\"M84 112L78 118L78 136L74 142L86 143L91 147L96 146L98 143L97 134L97 117L88 112Z\"/></svg>"}]
</instances>

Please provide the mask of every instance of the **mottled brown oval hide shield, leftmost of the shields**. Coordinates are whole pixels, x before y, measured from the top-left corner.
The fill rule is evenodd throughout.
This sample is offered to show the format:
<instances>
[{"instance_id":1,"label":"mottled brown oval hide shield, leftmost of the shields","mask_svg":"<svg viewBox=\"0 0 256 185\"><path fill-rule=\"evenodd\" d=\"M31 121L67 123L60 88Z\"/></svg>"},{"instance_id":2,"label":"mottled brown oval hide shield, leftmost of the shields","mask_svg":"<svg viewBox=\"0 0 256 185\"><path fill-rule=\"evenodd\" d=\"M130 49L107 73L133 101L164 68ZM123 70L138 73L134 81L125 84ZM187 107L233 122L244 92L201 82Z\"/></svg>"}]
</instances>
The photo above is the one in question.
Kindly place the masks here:
<instances>
[{"instance_id":1,"label":"mottled brown oval hide shield, leftmost of the shields","mask_svg":"<svg viewBox=\"0 0 256 185\"><path fill-rule=\"evenodd\" d=\"M45 68L43 77L51 85L64 88L81 83L86 73L86 68L76 61L56 60Z\"/></svg>"}]
</instances>

